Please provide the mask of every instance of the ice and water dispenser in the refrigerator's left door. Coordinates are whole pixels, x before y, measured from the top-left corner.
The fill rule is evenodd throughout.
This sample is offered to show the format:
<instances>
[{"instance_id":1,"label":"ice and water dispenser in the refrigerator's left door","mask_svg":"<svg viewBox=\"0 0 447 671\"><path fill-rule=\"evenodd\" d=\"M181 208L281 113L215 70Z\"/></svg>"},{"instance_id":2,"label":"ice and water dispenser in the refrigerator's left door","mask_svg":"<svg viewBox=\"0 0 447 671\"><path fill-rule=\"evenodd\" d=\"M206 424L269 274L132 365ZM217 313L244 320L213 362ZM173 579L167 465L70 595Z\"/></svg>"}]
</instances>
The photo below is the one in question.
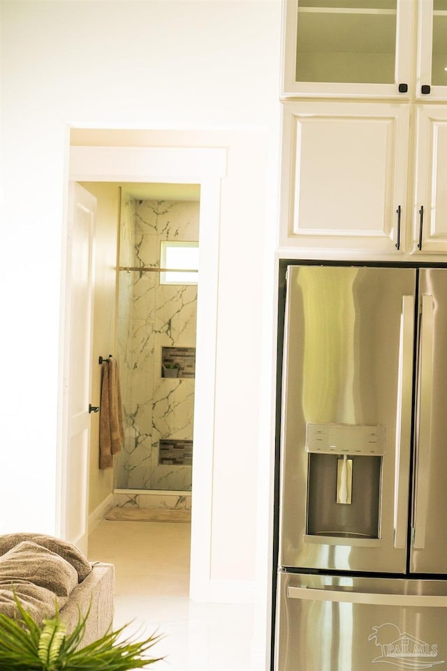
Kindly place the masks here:
<instances>
[{"instance_id":1,"label":"ice and water dispenser in the refrigerator's left door","mask_svg":"<svg viewBox=\"0 0 447 671\"><path fill-rule=\"evenodd\" d=\"M307 424L307 534L379 538L385 427Z\"/></svg>"}]
</instances>

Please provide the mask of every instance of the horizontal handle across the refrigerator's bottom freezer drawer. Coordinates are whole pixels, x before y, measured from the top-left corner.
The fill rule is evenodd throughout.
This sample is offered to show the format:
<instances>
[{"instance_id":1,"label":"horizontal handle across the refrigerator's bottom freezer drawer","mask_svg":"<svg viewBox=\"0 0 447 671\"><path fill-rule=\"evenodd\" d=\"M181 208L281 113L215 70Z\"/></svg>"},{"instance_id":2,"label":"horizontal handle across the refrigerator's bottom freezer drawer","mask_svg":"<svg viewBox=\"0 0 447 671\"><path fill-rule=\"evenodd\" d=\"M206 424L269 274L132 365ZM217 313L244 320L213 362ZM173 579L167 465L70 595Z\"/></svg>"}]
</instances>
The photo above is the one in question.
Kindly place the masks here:
<instances>
[{"instance_id":1,"label":"horizontal handle across the refrigerator's bottom freezer drawer","mask_svg":"<svg viewBox=\"0 0 447 671\"><path fill-rule=\"evenodd\" d=\"M325 589L324 587L288 587L287 597L307 601L337 601L340 603L365 603L389 606L447 606L447 596L428 596L427 594L382 594L375 592L354 592L344 589Z\"/></svg>"}]
</instances>

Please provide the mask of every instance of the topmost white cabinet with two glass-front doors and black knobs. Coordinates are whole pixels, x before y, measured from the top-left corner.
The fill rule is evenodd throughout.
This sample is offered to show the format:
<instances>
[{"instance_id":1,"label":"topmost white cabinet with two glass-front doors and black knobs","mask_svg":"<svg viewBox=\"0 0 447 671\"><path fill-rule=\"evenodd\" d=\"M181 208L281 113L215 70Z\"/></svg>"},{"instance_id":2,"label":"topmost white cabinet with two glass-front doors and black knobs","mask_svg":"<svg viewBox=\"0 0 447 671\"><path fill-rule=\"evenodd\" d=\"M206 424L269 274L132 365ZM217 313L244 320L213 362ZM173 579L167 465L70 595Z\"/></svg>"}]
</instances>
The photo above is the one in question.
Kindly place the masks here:
<instances>
[{"instance_id":1,"label":"topmost white cabinet with two glass-front doors and black knobs","mask_svg":"<svg viewBox=\"0 0 447 671\"><path fill-rule=\"evenodd\" d=\"M284 98L447 98L447 0L284 0L283 20Z\"/></svg>"}]
</instances>

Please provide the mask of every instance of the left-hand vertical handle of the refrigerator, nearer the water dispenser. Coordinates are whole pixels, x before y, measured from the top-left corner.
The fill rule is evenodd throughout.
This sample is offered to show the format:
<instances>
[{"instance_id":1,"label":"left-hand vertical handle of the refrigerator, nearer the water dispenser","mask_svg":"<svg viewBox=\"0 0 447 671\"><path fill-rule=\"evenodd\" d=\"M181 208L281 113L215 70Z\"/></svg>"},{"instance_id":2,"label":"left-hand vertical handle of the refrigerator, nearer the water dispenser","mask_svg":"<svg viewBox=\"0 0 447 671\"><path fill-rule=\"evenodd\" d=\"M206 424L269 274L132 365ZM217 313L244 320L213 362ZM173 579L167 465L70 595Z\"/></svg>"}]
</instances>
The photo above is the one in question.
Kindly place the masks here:
<instances>
[{"instance_id":1,"label":"left-hand vertical handle of the refrigerator, nearer the water dispenser","mask_svg":"<svg viewBox=\"0 0 447 671\"><path fill-rule=\"evenodd\" d=\"M396 422L394 547L406 546L409 489L407 473L411 445L413 387L414 297L402 296L399 346L399 386Z\"/></svg>"}]
</instances>

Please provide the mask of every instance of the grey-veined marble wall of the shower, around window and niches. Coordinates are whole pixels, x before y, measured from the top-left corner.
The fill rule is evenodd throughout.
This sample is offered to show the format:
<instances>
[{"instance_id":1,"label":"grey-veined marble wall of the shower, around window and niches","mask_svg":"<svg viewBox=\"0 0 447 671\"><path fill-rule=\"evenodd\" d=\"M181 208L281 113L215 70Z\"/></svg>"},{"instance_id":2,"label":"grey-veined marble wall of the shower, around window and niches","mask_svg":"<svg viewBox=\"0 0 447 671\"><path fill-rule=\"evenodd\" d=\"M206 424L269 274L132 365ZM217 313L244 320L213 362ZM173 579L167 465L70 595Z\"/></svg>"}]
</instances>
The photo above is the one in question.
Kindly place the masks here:
<instances>
[{"instance_id":1,"label":"grey-veined marble wall of the shower, around window and niches","mask_svg":"<svg viewBox=\"0 0 447 671\"><path fill-rule=\"evenodd\" d=\"M199 203L133 200L123 192L119 264L160 267L162 240L198 240ZM119 489L191 490L191 466L159 464L163 438L192 440L194 379L162 378L162 347L196 346L197 286L160 285L158 272L119 272L118 354L124 449Z\"/></svg>"}]
</instances>

